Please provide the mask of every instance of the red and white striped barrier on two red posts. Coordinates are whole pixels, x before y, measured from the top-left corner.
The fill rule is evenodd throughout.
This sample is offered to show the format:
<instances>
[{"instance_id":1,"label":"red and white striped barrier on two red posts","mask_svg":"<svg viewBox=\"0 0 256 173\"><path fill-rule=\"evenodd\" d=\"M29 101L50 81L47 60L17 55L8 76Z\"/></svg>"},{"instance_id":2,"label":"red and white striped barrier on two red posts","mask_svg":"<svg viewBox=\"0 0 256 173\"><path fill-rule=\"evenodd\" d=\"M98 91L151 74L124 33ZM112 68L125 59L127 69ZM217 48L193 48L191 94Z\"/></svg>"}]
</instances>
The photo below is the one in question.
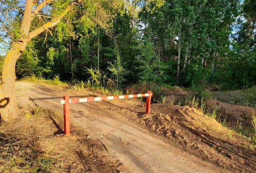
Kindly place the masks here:
<instances>
[{"instance_id":1,"label":"red and white striped barrier on two red posts","mask_svg":"<svg viewBox=\"0 0 256 173\"><path fill-rule=\"evenodd\" d=\"M105 100L114 100L122 98L136 98L136 97L147 97L146 100L146 114L150 112L150 102L152 91L147 91L147 94L133 94L133 95L124 95L124 96L106 96L106 97L91 97L91 98L76 98L69 99L69 96L63 96L64 100L61 100L60 103L64 104L64 133L66 135L70 134L70 122L69 122L69 104L70 103L82 103L89 101L105 101Z\"/></svg>"}]
</instances>

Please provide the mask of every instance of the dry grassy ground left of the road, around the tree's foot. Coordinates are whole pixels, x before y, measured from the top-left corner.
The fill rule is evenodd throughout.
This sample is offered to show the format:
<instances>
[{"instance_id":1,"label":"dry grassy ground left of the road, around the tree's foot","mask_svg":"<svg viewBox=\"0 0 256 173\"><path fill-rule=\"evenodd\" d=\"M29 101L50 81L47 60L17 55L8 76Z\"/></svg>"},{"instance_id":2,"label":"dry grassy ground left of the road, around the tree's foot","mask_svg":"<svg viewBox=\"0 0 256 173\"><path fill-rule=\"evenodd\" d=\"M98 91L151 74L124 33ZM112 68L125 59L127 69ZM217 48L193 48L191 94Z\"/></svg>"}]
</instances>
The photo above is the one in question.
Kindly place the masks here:
<instances>
[{"instance_id":1,"label":"dry grassy ground left of the road, around the tree's foot","mask_svg":"<svg viewBox=\"0 0 256 173\"><path fill-rule=\"evenodd\" d=\"M103 157L97 141L84 133L64 136L59 126L61 115L29 107L0 124L0 172L117 172L119 162Z\"/></svg>"}]
</instances>

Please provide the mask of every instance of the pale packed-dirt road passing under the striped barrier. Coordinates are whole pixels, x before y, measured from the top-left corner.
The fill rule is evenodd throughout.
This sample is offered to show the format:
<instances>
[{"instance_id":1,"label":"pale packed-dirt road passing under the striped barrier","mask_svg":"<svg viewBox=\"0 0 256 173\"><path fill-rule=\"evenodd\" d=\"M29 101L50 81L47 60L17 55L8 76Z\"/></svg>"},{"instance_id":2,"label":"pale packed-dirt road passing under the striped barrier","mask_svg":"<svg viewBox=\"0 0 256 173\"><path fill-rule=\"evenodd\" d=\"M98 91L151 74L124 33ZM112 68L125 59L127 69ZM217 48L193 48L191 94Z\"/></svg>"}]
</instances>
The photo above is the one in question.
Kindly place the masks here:
<instances>
[{"instance_id":1,"label":"pale packed-dirt road passing under the striped barrier","mask_svg":"<svg viewBox=\"0 0 256 173\"><path fill-rule=\"evenodd\" d=\"M63 95L79 96L75 92L28 82L18 82L16 86L21 106L39 105L60 113L63 111L60 104ZM80 98L88 96L93 95ZM120 168L122 172L220 171L131 123L128 120L130 114L143 113L124 109L121 106L124 104L145 107L145 103L136 99L71 104L71 127L100 140L109 152L105 151L105 154L115 156L123 163Z\"/></svg>"}]
</instances>

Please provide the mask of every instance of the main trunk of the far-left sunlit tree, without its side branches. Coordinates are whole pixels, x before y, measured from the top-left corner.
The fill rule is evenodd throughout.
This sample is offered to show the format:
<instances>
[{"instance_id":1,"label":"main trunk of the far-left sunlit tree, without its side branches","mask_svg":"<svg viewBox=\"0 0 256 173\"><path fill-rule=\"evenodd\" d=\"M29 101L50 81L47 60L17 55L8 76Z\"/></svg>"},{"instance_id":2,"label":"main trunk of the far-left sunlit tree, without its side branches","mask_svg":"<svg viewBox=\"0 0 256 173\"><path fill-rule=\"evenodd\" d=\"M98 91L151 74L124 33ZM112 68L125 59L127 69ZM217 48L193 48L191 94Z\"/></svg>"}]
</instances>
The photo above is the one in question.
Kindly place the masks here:
<instances>
[{"instance_id":1,"label":"main trunk of the far-left sunlit tree, without its side branches","mask_svg":"<svg viewBox=\"0 0 256 173\"><path fill-rule=\"evenodd\" d=\"M0 121L14 119L19 113L17 101L15 98L15 66L17 59L24 51L28 42L28 31L31 25L31 11L33 9L33 0L26 1L23 19L21 22L20 34L18 41L12 42L9 52L5 56L2 69L2 90L1 96L9 100L4 108L0 109ZM2 98L1 98L2 99Z\"/></svg>"}]
</instances>

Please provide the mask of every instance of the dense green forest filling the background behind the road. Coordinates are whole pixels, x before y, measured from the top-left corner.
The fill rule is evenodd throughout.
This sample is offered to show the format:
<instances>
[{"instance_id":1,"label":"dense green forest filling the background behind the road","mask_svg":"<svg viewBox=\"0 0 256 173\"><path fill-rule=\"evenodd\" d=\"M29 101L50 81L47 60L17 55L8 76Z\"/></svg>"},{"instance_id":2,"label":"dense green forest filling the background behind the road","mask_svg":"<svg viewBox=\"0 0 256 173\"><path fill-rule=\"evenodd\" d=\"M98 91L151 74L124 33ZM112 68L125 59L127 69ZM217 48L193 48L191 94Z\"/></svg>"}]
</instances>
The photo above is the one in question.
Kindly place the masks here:
<instances>
[{"instance_id":1,"label":"dense green forest filling the background behind the road","mask_svg":"<svg viewBox=\"0 0 256 173\"><path fill-rule=\"evenodd\" d=\"M82 0L67 13L72 3L57 0L38 14L30 7L31 26L22 36L26 8L2 1L2 13L12 22L1 18L0 39L12 40L11 51L14 43L23 45L16 58L5 58L13 65L17 59L17 77L87 81L88 70L100 70L118 88L146 81L243 89L256 82L255 0ZM16 13L7 10L14 7ZM56 22L41 27L51 21ZM3 89L8 70L3 70Z\"/></svg>"}]
</instances>

